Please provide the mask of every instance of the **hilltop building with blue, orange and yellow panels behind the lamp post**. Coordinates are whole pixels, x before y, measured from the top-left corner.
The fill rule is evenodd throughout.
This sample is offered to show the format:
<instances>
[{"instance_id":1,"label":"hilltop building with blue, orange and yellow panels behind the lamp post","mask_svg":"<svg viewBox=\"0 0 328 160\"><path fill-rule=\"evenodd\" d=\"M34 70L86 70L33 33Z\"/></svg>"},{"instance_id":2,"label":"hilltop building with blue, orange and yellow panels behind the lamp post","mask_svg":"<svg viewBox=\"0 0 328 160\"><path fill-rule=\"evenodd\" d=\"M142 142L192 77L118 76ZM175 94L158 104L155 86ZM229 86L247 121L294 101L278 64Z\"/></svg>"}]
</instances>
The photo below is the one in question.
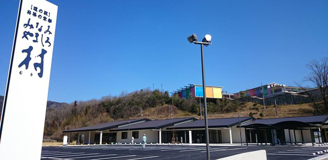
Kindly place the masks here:
<instances>
[{"instance_id":1,"label":"hilltop building with blue, orange and yellow panels behind the lamp post","mask_svg":"<svg viewBox=\"0 0 328 160\"><path fill-rule=\"evenodd\" d=\"M198 84L189 84L189 86L181 87L172 93L175 98L185 98L190 97L203 97L203 86ZM206 86L206 97L213 99L222 99L222 87L220 86Z\"/></svg>"}]
</instances>

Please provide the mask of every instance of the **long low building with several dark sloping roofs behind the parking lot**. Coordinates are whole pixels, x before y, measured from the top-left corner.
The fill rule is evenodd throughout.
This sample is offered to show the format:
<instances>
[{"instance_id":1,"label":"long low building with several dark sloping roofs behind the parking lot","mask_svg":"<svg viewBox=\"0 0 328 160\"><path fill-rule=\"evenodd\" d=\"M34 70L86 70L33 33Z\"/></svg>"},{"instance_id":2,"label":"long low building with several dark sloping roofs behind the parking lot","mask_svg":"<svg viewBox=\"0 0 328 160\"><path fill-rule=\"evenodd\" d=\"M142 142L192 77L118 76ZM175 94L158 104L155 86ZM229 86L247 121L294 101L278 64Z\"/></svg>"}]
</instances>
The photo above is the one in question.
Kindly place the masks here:
<instances>
[{"instance_id":1,"label":"long low building with several dark sloping roofs behind the parking lot","mask_svg":"<svg viewBox=\"0 0 328 160\"><path fill-rule=\"evenodd\" d=\"M209 141L213 144L299 145L328 142L328 115L258 120L252 117L209 119L208 127ZM144 134L147 143L206 143L205 122L195 118L125 120L63 132L84 133L84 144L128 144L132 136L134 143L141 143Z\"/></svg>"}]
</instances>

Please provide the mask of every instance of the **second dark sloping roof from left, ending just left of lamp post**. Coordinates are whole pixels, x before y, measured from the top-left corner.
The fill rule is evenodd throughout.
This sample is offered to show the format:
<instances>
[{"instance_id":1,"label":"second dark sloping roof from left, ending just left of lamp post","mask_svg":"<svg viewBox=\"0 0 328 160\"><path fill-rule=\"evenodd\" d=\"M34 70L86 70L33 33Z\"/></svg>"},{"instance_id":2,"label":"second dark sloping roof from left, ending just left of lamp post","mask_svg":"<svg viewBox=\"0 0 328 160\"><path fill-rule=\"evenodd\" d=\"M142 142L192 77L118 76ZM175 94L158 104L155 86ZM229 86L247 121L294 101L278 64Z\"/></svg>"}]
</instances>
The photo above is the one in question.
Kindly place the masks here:
<instances>
[{"instance_id":1,"label":"second dark sloping roof from left, ending just left of lamp post","mask_svg":"<svg viewBox=\"0 0 328 160\"><path fill-rule=\"evenodd\" d=\"M174 124L190 121L190 120L197 120L195 118L177 118L177 119L167 119L167 120L154 120L148 121L144 123L134 124L127 127L121 127L113 129L112 131L122 131L122 130L141 130L141 129L159 129L163 127L172 126Z\"/></svg>"}]
</instances>

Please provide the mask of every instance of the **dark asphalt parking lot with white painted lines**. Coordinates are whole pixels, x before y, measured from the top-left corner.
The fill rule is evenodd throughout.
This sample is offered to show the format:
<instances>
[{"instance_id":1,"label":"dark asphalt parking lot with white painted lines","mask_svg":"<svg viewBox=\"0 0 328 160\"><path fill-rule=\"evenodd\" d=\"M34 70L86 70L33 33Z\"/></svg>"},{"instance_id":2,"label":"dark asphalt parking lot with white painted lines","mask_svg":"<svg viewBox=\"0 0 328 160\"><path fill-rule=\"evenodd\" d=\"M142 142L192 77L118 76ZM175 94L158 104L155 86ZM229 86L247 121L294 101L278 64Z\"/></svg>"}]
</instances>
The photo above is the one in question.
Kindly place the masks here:
<instances>
[{"instance_id":1,"label":"dark asphalt parking lot with white painted lines","mask_svg":"<svg viewBox=\"0 0 328 160\"><path fill-rule=\"evenodd\" d=\"M265 149L268 159L311 159L328 153L328 147L211 146L211 159ZM206 159L206 146L96 145L43 147L41 159Z\"/></svg>"}]
</instances>

